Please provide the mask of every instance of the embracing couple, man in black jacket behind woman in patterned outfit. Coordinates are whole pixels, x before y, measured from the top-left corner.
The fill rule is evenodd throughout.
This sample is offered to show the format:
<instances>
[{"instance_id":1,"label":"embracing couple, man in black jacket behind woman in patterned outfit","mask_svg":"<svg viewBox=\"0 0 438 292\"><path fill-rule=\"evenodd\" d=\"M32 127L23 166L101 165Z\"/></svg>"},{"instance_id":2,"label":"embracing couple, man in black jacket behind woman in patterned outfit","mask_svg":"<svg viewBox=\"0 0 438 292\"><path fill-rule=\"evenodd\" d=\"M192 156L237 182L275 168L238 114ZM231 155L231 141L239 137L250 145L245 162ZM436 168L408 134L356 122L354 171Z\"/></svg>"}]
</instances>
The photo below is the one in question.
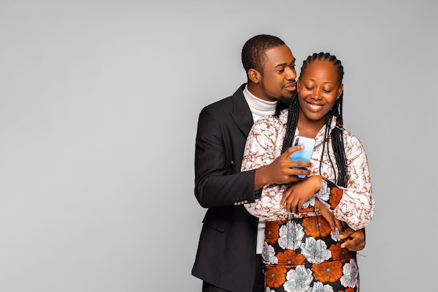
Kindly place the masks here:
<instances>
[{"instance_id":1,"label":"embracing couple, man in black jacket behind woman in patterned outfit","mask_svg":"<svg viewBox=\"0 0 438 292\"><path fill-rule=\"evenodd\" d=\"M374 200L365 151L342 128L341 62L313 54L295 83L295 57L269 35L242 62L248 83L199 115L195 195L209 209L192 274L204 292L358 291ZM311 162L290 161L295 134L316 139Z\"/></svg>"}]
</instances>

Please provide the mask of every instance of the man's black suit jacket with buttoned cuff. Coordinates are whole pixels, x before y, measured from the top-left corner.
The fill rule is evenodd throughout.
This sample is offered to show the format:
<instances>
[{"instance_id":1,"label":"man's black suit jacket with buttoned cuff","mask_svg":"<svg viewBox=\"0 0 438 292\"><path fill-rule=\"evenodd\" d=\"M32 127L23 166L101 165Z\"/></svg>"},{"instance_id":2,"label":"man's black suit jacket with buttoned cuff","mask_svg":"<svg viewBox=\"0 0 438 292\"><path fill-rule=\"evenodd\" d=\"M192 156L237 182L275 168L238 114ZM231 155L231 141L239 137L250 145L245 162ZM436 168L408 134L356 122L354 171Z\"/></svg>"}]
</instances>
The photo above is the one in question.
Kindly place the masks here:
<instances>
[{"instance_id":1,"label":"man's black suit jacket with buttoned cuff","mask_svg":"<svg viewBox=\"0 0 438 292\"><path fill-rule=\"evenodd\" d=\"M258 219L242 205L255 201L255 170L240 172L246 137L253 125L244 86L199 114L195 196L209 209L192 275L229 291L252 292Z\"/></svg>"}]
</instances>

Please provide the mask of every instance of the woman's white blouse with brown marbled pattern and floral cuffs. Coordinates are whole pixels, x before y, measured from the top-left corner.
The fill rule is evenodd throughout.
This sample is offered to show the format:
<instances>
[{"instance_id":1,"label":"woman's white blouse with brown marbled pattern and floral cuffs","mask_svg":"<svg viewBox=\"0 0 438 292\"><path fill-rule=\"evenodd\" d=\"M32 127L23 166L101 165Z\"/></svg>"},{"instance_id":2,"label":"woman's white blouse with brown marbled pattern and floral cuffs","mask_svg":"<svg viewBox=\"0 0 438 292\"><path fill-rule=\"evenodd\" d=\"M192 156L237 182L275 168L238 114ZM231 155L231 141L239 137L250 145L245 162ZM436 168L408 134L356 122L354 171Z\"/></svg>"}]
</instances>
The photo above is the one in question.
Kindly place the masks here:
<instances>
[{"instance_id":1,"label":"woman's white blouse with brown marbled pattern and floral cuffs","mask_svg":"<svg viewBox=\"0 0 438 292\"><path fill-rule=\"evenodd\" d=\"M255 122L246 140L241 171L269 165L281 155L287 120L288 111L284 110L278 118L266 116ZM331 128L335 125L336 120L334 118ZM343 132L348 164L348 186L341 188L332 182L335 180L332 165L336 167L336 160L334 159L331 141L328 143L328 149L326 144L323 165L319 169L320 157L324 148L324 126L316 135L315 149L311 158L313 168L309 169L311 175L320 174L323 176L322 186L320 191L304 204L304 209L299 214L293 214L293 216L302 218L318 215L313 210L315 197L318 197L336 218L346 222L354 230L358 230L365 228L371 221L374 213L374 199L372 197L365 149L353 134L346 130ZM298 130L295 134L298 134ZM331 162L327 151L329 151L332 158ZM288 216L290 217L291 214L288 214L285 207L280 206L281 197L288 186L274 184L264 186L260 199L255 200L254 203L245 204L246 209L250 214L268 221L284 220Z\"/></svg>"}]
</instances>

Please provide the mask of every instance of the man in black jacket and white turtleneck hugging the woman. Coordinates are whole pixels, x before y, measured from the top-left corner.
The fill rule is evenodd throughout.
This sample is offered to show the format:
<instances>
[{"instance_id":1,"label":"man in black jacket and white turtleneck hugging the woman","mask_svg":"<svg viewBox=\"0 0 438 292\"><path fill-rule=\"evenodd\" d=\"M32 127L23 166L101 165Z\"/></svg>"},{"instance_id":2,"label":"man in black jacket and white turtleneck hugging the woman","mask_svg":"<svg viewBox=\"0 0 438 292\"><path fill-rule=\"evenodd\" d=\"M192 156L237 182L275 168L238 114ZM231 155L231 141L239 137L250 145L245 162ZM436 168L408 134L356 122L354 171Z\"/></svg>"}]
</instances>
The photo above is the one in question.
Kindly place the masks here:
<instances>
[{"instance_id":1,"label":"man in black jacket and white turtleneck hugging the woman","mask_svg":"<svg viewBox=\"0 0 438 292\"><path fill-rule=\"evenodd\" d=\"M290 161L289 155L299 146L289 148L271 165L240 172L243 148L254 120L284 108L278 101L292 97L297 78L295 57L276 36L262 34L249 39L242 49L242 63L248 83L199 114L195 196L209 209L192 274L203 280L203 292L264 292L260 255L264 222L251 216L243 204L255 202L257 190L266 184L290 183L299 180L299 174L310 174L292 169L311 166L310 162ZM316 207L323 208L319 204ZM327 210L321 212L327 214ZM334 228L334 219L330 222ZM344 236L351 239L346 248L358 251L365 247L363 230L348 230Z\"/></svg>"}]
</instances>

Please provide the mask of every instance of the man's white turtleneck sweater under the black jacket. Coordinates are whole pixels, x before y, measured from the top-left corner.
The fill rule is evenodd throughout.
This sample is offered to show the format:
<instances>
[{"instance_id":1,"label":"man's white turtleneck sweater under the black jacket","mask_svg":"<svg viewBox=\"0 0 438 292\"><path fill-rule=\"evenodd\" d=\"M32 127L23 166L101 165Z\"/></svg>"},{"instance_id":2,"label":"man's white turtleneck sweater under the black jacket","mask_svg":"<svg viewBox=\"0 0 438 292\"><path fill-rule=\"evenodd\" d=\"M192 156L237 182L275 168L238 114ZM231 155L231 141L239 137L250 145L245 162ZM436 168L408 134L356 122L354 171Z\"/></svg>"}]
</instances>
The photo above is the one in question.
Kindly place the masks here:
<instances>
[{"instance_id":1,"label":"man's white turtleneck sweater under the black jacket","mask_svg":"<svg viewBox=\"0 0 438 292\"><path fill-rule=\"evenodd\" d=\"M269 116L275 113L278 101L268 102L253 95L248 90L248 85L243 89L243 96L248 103L251 113L253 113L254 122L262 116ZM264 244L264 219L259 218L259 225L257 228L257 247L256 252L262 253Z\"/></svg>"}]
</instances>

